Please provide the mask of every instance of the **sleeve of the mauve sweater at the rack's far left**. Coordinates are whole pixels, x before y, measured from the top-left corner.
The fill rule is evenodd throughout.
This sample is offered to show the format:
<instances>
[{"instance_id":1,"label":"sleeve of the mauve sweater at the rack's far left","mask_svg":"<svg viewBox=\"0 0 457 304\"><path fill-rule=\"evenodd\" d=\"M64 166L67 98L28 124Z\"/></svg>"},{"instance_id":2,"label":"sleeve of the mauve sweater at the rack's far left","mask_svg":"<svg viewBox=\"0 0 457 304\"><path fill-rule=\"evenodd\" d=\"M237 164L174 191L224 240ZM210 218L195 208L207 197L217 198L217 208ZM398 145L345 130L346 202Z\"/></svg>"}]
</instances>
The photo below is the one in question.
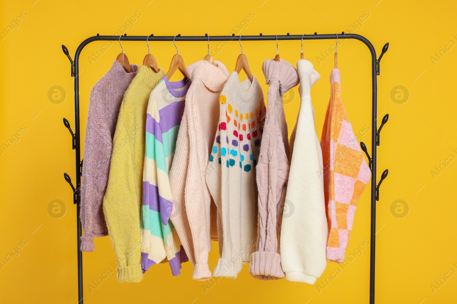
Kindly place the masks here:
<instances>
[{"instance_id":1,"label":"sleeve of the mauve sweater at the rack's far left","mask_svg":"<svg viewBox=\"0 0 457 304\"><path fill-rule=\"evenodd\" d=\"M95 89L95 88L94 88ZM95 250L94 237L108 235L102 213L103 195L108 181L112 139L104 121L101 97L92 90L87 114L84 161L81 177L81 251Z\"/></svg>"}]
</instances>

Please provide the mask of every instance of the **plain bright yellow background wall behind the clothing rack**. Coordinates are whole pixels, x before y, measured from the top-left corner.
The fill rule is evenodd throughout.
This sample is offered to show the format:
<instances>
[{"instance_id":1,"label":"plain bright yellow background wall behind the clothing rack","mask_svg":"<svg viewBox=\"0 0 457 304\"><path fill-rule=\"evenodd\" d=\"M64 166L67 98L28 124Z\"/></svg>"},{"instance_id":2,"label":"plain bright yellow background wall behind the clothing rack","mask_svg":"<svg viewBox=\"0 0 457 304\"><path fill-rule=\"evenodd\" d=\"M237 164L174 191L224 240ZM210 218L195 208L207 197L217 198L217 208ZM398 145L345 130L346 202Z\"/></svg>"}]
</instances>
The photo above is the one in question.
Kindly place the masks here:
<instances>
[{"instance_id":1,"label":"plain bright yellow background wall behind the clothing rack","mask_svg":"<svg viewBox=\"0 0 457 304\"><path fill-rule=\"evenodd\" d=\"M436 165L457 156L455 132L455 69L457 50L444 52L439 61L431 56L457 42L455 1L372 0L351 1L216 1L164 0L106 1L27 0L2 1L0 30L25 12L19 27L0 41L0 144L11 139L21 126L27 128L0 155L0 258L21 240L27 245L0 269L0 297L3 303L77 303L76 207L63 173L75 180L74 150L62 124L69 119L74 129L73 78L69 60L61 50L68 47L71 57L81 41L96 33L113 35L139 12L141 17L128 28L127 35L237 35L319 34L352 31L372 41L378 55L384 43L390 48L381 61L378 76L378 113L390 119L381 133L378 147L378 178L388 168L377 205L377 303L454 303L457 275L439 289L431 284L450 268L457 271L455 179L457 165L442 166L439 175L430 173ZM265 2L264 2L265 1ZM379 1L379 2L378 2ZM240 22L254 12L244 25ZM361 23L358 18L368 12ZM239 26L239 31L237 30ZM354 26L351 28L351 26ZM356 27L358 26L358 27ZM367 47L356 40L341 41L338 48L342 98L355 133L371 128L371 57ZM314 64L321 79L312 88L316 130L320 138L329 100L329 74L333 55L319 65L316 57L335 41L304 41L305 58ZM80 57L81 142L92 86L103 76L120 52L116 41L99 59L88 59L98 46L90 43ZM210 46L219 43L211 42ZM175 47L171 42L151 42L151 53L159 66L168 69ZM131 63L141 64L147 53L144 42L124 42ZM177 42L187 64L202 59L206 42ZM262 62L276 55L275 41L244 42L252 72L267 86ZM233 71L240 52L238 41L228 42L215 59ZM279 41L281 58L296 64L300 41ZM176 79L178 74L175 74ZM62 86L66 99L51 103L48 90ZM404 86L406 103L394 103L391 90ZM294 88L298 95L298 88ZM404 102L400 100L400 103ZM300 105L296 96L285 105L289 131ZM38 115L37 115L38 114ZM371 132L371 130L370 130ZM361 139L371 147L370 132ZM363 133L363 132L362 132ZM81 151L82 152L82 151ZM449 161L448 161L449 164ZM48 213L53 200L64 202L64 216ZM391 213L395 200L404 200L409 214L397 218ZM348 253L369 240L370 189L357 208ZM181 275L172 277L167 264L156 265L141 283L118 283L115 272L96 289L90 284L98 275L114 270L116 261L109 237L95 241L96 251L83 254L85 303L368 303L369 247L362 251L325 289L320 279L339 267L329 262L314 286L285 279L263 282L249 275L248 265L236 279L223 278L211 286L191 279L192 266L183 264ZM213 244L213 248L217 244ZM217 251L217 250L216 250ZM210 268L218 254L210 252ZM92 292L91 292L92 291ZM308 301L308 302L307 302ZM421 302L422 301L422 302Z\"/></svg>"}]
</instances>

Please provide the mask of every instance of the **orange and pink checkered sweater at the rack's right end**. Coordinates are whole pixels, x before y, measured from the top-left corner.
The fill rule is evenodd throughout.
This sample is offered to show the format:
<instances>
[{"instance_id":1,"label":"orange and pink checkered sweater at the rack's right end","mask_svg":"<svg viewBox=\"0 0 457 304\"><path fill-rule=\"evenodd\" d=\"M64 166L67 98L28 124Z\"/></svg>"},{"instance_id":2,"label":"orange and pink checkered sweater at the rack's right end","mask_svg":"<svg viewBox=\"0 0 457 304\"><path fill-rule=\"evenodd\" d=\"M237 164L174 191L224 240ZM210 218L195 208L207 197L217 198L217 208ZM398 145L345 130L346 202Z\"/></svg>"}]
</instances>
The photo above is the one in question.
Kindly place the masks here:
<instances>
[{"instance_id":1,"label":"orange and pink checkered sweater at the rack's right end","mask_svg":"<svg viewBox=\"0 0 457 304\"><path fill-rule=\"evenodd\" d=\"M371 172L341 101L338 69L332 70L330 84L330 101L320 139L329 229L327 259L342 263L351 239L357 203L370 180Z\"/></svg>"}]
</instances>

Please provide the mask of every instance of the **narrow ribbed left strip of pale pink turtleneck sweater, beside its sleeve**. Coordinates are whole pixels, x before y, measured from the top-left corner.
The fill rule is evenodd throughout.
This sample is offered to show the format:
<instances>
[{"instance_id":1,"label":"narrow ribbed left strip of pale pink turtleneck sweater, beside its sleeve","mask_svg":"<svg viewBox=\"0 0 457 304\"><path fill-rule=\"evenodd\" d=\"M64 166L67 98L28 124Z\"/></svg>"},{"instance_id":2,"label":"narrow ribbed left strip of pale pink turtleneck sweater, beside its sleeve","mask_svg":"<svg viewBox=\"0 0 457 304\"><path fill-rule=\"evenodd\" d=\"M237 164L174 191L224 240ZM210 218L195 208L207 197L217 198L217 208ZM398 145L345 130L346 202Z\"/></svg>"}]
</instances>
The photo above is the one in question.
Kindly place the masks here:
<instances>
[{"instance_id":1,"label":"narrow ribbed left strip of pale pink turtleneck sweater, beside its sleeve","mask_svg":"<svg viewBox=\"0 0 457 304\"><path fill-rule=\"evenodd\" d=\"M171 194L173 195L173 211L171 212L170 219L181 239L182 247L184 247L187 257L192 265L194 265L195 255L192 234L184 202L187 162L189 159L189 138L187 129L187 115L184 113L181 119L181 126L179 127L178 138L176 140L175 156L173 157L173 163L169 174Z\"/></svg>"}]
</instances>

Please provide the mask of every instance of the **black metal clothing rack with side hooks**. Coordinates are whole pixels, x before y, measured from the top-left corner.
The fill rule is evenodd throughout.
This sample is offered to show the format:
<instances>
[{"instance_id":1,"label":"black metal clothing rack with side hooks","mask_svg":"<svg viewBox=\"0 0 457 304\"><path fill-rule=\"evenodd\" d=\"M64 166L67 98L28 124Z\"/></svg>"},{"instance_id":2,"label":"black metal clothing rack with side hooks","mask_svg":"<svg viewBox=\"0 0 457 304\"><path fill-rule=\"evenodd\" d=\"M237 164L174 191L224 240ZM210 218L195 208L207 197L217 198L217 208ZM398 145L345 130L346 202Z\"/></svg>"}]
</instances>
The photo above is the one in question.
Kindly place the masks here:
<instances>
[{"instance_id":1,"label":"black metal clothing rack with side hooks","mask_svg":"<svg viewBox=\"0 0 457 304\"><path fill-rule=\"evenodd\" d=\"M73 185L69 175L64 173L65 180L71 186L73 190L73 201L76 204L76 226L77 226L77 246L78 246L78 304L83 303L83 274L82 274L82 252L81 247L81 221L80 221L80 186L81 186L81 175L82 175L82 164L81 160L81 142L80 142L80 77L79 77L79 58L81 51L85 46L93 41L267 41L267 40L318 40L318 39L356 39L365 43L372 55L372 156L368 154L367 147L363 142L360 143L361 149L365 152L368 158L368 164L372 171L371 177L371 249L370 249L370 304L374 304L375 297L375 234L376 234L376 201L379 201L379 186L382 181L386 178L388 170L384 170L381 175L379 183L376 184L376 173L377 173L377 152L376 148L379 145L379 133L383 128L383 125L388 120L388 114L383 117L382 124L379 129L377 128L377 75L379 75L379 62L383 57L384 53L387 52L389 44L386 43L383 46L383 50L379 58L376 57L376 50L372 43L365 37L357 34L317 34L316 32L311 35L269 35L265 36L260 33L259 36L91 36L86 40L82 41L74 54L72 60L69 56L68 49L62 45L64 54L68 57L71 63L71 77L74 77L74 132L72 131L69 121L64 118L64 125L72 136L72 146L75 150L75 165L76 165L76 186Z\"/></svg>"}]
</instances>

